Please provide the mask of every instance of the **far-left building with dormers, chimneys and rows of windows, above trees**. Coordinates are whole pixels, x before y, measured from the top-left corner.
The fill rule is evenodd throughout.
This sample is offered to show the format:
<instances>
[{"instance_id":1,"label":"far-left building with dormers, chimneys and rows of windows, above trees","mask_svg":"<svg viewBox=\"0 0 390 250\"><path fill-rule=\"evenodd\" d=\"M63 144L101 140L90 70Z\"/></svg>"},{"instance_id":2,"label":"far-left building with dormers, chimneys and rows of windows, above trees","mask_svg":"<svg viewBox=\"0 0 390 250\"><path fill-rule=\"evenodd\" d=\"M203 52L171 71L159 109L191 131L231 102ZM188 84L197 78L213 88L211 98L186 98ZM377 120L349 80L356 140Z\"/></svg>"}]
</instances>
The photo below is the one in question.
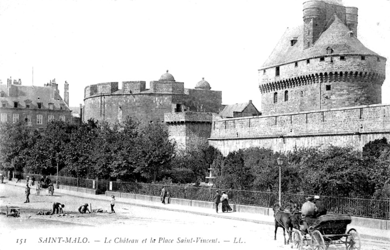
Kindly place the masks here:
<instances>
[{"instance_id":1,"label":"far-left building with dormers, chimneys and rows of windows, above trees","mask_svg":"<svg viewBox=\"0 0 390 250\"><path fill-rule=\"evenodd\" d=\"M67 98L68 89L65 87ZM55 79L44 86L24 86L20 79L13 83L8 79L7 84L0 84L0 104L1 122L22 120L28 126L43 130L52 120L71 121L71 110L59 95Z\"/></svg>"}]
</instances>

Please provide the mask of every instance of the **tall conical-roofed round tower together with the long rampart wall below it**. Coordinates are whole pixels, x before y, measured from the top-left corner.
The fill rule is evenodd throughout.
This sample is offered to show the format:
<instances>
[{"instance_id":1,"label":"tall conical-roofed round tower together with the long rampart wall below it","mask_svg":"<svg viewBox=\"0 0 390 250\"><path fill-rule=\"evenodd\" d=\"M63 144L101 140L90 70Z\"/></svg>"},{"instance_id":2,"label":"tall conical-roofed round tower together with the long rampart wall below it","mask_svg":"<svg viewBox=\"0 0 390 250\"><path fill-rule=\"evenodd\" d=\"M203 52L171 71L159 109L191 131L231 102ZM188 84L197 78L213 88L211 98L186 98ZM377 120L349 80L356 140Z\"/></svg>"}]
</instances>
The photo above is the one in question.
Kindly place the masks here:
<instances>
[{"instance_id":1,"label":"tall conical-roofed round tower together with the long rampart wall below it","mask_svg":"<svg viewBox=\"0 0 390 250\"><path fill-rule=\"evenodd\" d=\"M303 24L287 29L258 70L262 116L213 120L209 143L224 155L251 146L353 146L390 138L381 104L386 58L357 38L355 7L303 3Z\"/></svg>"}]
</instances>

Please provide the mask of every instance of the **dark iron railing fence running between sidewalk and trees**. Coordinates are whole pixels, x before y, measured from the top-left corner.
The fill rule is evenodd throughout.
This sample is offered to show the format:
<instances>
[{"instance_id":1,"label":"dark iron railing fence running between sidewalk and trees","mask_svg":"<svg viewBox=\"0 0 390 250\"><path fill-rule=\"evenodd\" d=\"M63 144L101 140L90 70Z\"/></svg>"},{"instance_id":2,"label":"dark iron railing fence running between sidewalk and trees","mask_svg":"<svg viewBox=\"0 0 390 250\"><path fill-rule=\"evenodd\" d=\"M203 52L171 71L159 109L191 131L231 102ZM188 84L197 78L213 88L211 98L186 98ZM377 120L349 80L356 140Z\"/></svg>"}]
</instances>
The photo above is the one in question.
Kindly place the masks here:
<instances>
[{"instance_id":1,"label":"dark iron railing fence running between sidewalk and trees","mask_svg":"<svg viewBox=\"0 0 390 250\"><path fill-rule=\"evenodd\" d=\"M22 174L22 178L31 174ZM39 181L42 175L33 174L36 182ZM50 175L49 178L56 184L56 176ZM95 189L99 193L104 193L109 190L110 181L95 180ZM59 184L73 187L93 188L92 179L78 179L72 177L59 176ZM215 191L223 191L222 188L213 187L194 187L188 185L163 185L149 183L131 183L131 182L112 182L112 190L123 193L135 193L144 195L161 194L162 187L166 187L168 196L173 198L212 201ZM253 190L237 190L226 189L229 196L229 202L241 205L259 206L272 208L279 201L277 192L253 191ZM298 208L306 202L306 197L313 196L304 193L282 193L282 207L288 207L290 200L294 201ZM351 214L358 217L368 217L377 219L390 219L390 199L363 199L363 198L347 198L337 196L321 196L321 200L325 203L329 213L335 214Z\"/></svg>"}]
</instances>

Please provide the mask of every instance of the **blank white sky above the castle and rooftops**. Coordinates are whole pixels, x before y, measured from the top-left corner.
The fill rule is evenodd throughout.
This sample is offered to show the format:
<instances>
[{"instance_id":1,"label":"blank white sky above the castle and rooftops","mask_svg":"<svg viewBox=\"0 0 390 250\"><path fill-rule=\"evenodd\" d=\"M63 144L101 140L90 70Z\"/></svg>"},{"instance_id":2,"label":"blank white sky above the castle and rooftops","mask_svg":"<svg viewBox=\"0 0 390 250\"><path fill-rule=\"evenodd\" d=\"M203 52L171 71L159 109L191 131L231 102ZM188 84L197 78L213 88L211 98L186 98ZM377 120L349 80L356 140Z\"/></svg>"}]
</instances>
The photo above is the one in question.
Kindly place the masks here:
<instances>
[{"instance_id":1,"label":"blank white sky above the castle and rooftops","mask_svg":"<svg viewBox=\"0 0 390 250\"><path fill-rule=\"evenodd\" d=\"M70 106L90 84L156 81L168 69L185 88L202 77L223 104L253 100L257 70L302 0L1 0L0 80L69 83ZM344 0L358 12L358 39L390 59L390 0ZM390 62L382 103L390 104ZM33 74L34 67L34 74ZM33 77L34 75L34 77Z\"/></svg>"}]
</instances>

